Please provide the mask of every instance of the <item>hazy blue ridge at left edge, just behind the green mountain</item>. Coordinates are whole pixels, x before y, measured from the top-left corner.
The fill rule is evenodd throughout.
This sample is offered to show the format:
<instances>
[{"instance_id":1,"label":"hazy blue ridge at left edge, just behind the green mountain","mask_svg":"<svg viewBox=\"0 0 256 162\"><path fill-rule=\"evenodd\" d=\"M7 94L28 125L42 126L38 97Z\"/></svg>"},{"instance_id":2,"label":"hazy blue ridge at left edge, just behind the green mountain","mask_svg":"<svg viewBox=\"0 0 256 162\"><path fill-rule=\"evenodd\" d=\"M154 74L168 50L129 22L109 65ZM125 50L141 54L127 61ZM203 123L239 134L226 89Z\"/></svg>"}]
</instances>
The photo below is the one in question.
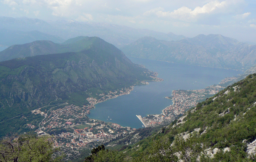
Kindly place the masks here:
<instances>
[{"instance_id":1,"label":"hazy blue ridge at left edge, just behind the green mountain","mask_svg":"<svg viewBox=\"0 0 256 162\"><path fill-rule=\"evenodd\" d=\"M23 32L18 30L0 29L0 46L9 47L33 42L36 40L50 40L55 43L62 43L65 40L54 35L45 34L37 30Z\"/></svg>"}]
</instances>

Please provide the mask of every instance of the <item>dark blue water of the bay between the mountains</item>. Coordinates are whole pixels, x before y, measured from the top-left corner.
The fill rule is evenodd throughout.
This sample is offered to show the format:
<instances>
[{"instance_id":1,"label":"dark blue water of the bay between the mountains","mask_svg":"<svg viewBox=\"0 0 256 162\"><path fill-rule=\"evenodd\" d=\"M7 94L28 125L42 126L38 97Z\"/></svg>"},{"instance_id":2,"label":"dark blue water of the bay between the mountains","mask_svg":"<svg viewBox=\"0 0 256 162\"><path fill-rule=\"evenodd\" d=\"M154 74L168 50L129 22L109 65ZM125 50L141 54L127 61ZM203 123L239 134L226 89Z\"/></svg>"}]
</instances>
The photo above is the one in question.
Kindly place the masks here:
<instances>
[{"instance_id":1,"label":"dark blue water of the bay between the mountains","mask_svg":"<svg viewBox=\"0 0 256 162\"><path fill-rule=\"evenodd\" d=\"M150 82L149 85L135 86L129 95L122 95L95 105L89 117L104 122L113 122L123 127L142 128L136 115L160 114L171 105L165 99L172 90L195 90L218 84L225 77L237 76L241 72L211 67L190 66L149 59L129 57L133 63L143 64L147 69L158 72L163 82ZM109 118L108 118L109 117ZM112 120L110 120L112 119Z\"/></svg>"}]
</instances>

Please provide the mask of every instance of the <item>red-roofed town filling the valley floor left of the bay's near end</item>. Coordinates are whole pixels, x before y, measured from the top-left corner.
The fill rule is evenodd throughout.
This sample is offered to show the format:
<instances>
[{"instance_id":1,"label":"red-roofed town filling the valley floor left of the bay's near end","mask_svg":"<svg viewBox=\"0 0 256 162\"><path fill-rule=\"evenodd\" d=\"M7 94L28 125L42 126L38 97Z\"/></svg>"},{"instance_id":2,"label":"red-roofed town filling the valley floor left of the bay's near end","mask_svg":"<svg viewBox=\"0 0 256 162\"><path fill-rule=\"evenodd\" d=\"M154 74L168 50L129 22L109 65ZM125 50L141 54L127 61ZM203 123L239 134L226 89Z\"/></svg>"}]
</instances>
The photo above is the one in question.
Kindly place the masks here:
<instances>
[{"instance_id":1,"label":"red-roofed town filling the valley floor left of the bay's near end","mask_svg":"<svg viewBox=\"0 0 256 162\"><path fill-rule=\"evenodd\" d=\"M141 84L148 83L142 82ZM87 98L89 105L83 107L73 104L64 107L55 106L49 109L47 113L41 109L33 110L32 113L41 114L45 117L35 132L38 135L54 135L53 143L55 147L66 146L71 149L78 149L94 141L104 141L134 131L135 128L122 127L110 122L105 123L100 120L89 119L86 116L95 104L120 95L127 95L132 90L133 86L114 92L110 91L107 95L99 94L100 99L98 100ZM28 127L35 128L36 126L28 124Z\"/></svg>"}]
</instances>

